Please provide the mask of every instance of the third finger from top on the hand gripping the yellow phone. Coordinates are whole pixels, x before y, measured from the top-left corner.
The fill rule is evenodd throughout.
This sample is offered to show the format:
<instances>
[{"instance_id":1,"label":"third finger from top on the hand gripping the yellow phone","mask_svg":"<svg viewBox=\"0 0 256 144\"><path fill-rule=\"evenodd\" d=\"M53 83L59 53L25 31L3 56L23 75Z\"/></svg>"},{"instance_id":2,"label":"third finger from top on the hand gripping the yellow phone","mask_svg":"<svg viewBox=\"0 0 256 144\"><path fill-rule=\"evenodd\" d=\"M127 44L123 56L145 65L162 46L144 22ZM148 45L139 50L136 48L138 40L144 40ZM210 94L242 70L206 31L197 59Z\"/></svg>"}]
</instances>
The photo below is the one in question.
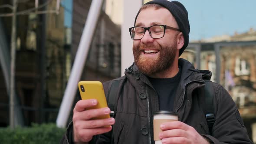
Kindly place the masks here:
<instances>
[{"instance_id":1,"label":"third finger from top on the hand gripping the yellow phone","mask_svg":"<svg viewBox=\"0 0 256 144\"><path fill-rule=\"evenodd\" d=\"M106 125L115 124L114 118L105 118L98 120L89 120L89 121L77 121L74 123L76 129L91 129L91 128L100 128L105 127Z\"/></svg>"}]
</instances>

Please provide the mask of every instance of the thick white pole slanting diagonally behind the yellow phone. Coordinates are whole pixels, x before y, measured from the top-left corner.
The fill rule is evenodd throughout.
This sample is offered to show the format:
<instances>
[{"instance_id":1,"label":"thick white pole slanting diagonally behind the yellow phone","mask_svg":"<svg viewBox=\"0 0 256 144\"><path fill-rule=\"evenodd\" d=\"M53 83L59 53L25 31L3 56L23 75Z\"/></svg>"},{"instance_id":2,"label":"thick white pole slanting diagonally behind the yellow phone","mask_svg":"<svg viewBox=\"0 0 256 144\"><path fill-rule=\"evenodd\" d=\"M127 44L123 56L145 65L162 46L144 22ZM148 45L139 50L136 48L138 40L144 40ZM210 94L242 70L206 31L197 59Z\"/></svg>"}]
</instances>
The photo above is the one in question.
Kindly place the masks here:
<instances>
[{"instance_id":1,"label":"thick white pole slanting diagonally behind the yellow phone","mask_svg":"<svg viewBox=\"0 0 256 144\"><path fill-rule=\"evenodd\" d=\"M101 12L102 2L103 0L92 0L88 17L85 22L85 28L83 30L82 37L76 52L75 62L71 70L68 85L66 87L64 97L59 108L59 114L56 120L56 124L58 127L66 127L70 110L75 98L75 93L78 87L78 82L84 68L83 65L85 64L85 60L89 51L89 46L91 44L93 33Z\"/></svg>"}]
</instances>

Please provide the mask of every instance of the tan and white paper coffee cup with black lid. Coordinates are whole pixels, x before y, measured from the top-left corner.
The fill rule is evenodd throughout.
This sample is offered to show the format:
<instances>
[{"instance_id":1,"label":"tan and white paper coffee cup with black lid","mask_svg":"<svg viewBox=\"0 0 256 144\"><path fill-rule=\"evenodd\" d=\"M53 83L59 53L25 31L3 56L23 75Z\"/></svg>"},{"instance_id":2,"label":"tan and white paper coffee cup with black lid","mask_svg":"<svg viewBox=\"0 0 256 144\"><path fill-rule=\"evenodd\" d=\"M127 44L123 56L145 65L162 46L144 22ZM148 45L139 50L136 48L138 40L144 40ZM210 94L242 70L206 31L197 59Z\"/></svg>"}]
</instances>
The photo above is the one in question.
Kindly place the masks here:
<instances>
[{"instance_id":1,"label":"tan and white paper coffee cup with black lid","mask_svg":"<svg viewBox=\"0 0 256 144\"><path fill-rule=\"evenodd\" d=\"M168 121L178 121L178 115L174 111L156 111L153 114L154 141L155 144L162 144L159 133L162 132L160 125Z\"/></svg>"}]
</instances>

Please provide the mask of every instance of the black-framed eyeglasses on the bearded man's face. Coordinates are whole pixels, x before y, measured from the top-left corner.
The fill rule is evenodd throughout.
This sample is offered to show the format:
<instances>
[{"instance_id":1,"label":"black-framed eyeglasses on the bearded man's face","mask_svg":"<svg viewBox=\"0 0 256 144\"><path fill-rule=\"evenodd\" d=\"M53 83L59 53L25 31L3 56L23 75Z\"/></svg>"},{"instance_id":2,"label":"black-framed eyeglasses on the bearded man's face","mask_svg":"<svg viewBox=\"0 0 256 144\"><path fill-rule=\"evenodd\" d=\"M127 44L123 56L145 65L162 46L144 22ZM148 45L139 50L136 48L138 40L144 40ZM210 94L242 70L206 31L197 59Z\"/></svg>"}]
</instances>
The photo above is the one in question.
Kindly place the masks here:
<instances>
[{"instance_id":1,"label":"black-framed eyeglasses on the bearded man's face","mask_svg":"<svg viewBox=\"0 0 256 144\"><path fill-rule=\"evenodd\" d=\"M154 25L149 27L135 26L135 27L129 28L129 31L131 34L131 39L134 39L134 40L142 39L144 34L146 33L146 30L148 30L149 35L153 39L160 39L164 37L165 29L172 29L179 32L181 31L180 29L177 29L171 26L166 26L166 25Z\"/></svg>"}]
</instances>

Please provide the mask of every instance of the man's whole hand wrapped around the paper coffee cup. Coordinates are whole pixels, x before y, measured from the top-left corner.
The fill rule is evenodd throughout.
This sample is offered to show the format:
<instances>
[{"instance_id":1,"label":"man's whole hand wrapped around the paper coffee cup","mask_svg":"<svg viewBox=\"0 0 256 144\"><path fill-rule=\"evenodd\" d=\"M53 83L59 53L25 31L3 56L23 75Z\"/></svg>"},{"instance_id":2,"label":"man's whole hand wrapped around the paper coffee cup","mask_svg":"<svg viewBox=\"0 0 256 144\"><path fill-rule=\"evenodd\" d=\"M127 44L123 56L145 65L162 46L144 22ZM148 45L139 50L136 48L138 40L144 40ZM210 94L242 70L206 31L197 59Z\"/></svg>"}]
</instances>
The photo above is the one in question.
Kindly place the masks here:
<instances>
[{"instance_id":1,"label":"man's whole hand wrapped around the paper coffee cup","mask_svg":"<svg viewBox=\"0 0 256 144\"><path fill-rule=\"evenodd\" d=\"M171 121L160 125L162 144L210 144L191 126L181 121Z\"/></svg>"}]
</instances>

